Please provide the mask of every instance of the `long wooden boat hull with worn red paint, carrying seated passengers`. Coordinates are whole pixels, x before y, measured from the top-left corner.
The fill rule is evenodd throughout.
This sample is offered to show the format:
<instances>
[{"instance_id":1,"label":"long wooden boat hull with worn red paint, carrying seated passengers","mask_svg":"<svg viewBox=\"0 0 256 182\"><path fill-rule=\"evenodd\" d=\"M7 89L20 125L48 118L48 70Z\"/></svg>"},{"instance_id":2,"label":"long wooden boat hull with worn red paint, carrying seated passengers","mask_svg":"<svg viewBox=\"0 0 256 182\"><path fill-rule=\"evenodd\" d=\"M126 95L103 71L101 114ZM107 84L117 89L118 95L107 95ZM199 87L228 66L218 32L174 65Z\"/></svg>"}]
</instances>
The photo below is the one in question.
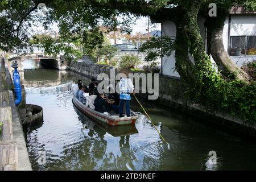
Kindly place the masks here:
<instances>
[{"instance_id":1,"label":"long wooden boat hull with worn red paint, carrying seated passengers","mask_svg":"<svg viewBox=\"0 0 256 182\"><path fill-rule=\"evenodd\" d=\"M90 119L93 119L94 121L100 121L104 122L111 126L119 126L119 125L134 125L134 123L138 119L138 115L135 114L133 111L130 113L130 117L122 117L119 118L118 114L114 115L107 115L100 113L96 110L90 109L89 107L85 107L82 102L80 102L73 94L73 104L86 116L88 116Z\"/></svg>"}]
</instances>

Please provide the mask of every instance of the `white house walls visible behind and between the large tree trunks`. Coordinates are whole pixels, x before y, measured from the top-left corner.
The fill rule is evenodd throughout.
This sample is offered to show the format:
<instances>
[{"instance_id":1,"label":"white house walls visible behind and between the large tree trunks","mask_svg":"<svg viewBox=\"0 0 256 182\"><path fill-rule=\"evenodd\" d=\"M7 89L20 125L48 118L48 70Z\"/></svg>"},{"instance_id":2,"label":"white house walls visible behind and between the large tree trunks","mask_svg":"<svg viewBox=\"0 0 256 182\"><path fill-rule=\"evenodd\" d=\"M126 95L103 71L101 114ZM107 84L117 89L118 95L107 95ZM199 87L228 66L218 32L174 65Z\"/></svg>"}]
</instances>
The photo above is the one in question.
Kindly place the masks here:
<instances>
[{"instance_id":1,"label":"white house walls visible behind and between the large tree trunks","mask_svg":"<svg viewBox=\"0 0 256 182\"><path fill-rule=\"evenodd\" d=\"M205 27L204 27L204 18L200 17L197 19L197 22L200 27L200 34L205 40ZM226 51L228 51L229 39L228 39L228 17L225 20L225 25L223 29L223 44ZM170 20L164 20L162 22L162 35L176 36L176 26L174 22ZM239 36L239 35L256 35L256 14L232 14L231 23L230 23L230 36ZM193 57L191 60L193 61ZM232 61L241 67L243 63L248 61L256 60L256 55L242 55L242 56L230 56ZM210 56L212 64L215 64L212 56ZM163 75L171 77L180 77L179 73L175 71L175 51L171 56L164 56L162 58L162 67ZM216 68L217 71L217 68Z\"/></svg>"}]
</instances>

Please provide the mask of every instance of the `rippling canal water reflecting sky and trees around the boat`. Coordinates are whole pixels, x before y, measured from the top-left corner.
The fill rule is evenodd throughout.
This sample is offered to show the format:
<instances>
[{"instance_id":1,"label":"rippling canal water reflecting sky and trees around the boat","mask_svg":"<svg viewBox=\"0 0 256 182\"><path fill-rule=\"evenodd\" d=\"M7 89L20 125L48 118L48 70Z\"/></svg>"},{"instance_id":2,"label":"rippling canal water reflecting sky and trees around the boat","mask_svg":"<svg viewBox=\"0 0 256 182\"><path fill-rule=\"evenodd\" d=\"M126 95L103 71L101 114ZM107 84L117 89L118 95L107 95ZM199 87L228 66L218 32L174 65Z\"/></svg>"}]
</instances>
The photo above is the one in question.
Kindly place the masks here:
<instances>
[{"instance_id":1,"label":"rippling canal water reflecting sky and trees around the boat","mask_svg":"<svg viewBox=\"0 0 256 182\"><path fill-rule=\"evenodd\" d=\"M43 107L43 123L24 130L34 170L256 169L253 141L146 101L145 109L170 147L143 114L135 126L102 127L72 104L72 86L79 78L89 84L88 78L36 69L33 60L25 68L26 102ZM134 100L131 109L142 112Z\"/></svg>"}]
</instances>

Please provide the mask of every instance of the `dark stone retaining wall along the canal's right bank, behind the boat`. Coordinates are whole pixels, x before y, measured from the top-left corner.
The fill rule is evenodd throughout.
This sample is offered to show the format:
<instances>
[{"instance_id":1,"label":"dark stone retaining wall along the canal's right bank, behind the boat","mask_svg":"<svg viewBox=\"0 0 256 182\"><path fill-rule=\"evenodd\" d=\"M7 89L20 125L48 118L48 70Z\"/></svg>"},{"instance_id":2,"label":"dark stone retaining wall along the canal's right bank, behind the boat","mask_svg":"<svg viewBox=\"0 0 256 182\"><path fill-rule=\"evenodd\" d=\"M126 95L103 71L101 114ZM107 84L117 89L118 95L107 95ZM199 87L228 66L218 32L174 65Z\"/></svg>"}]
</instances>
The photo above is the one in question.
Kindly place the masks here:
<instances>
[{"instance_id":1,"label":"dark stone retaining wall along the canal's right bank, behind the boat","mask_svg":"<svg viewBox=\"0 0 256 182\"><path fill-rule=\"evenodd\" d=\"M113 67L84 61L72 62L67 69L79 75L97 79L100 73L106 73L110 77L110 69L113 69ZM192 104L185 98L184 92L185 86L180 80L159 77L159 97L152 102L170 107L170 109L182 111L184 114L193 115L202 121L215 123L234 133L246 137L256 137L256 126L254 124L244 122L240 118L233 117L228 113L212 111L203 105ZM140 96L147 98L146 94L140 94Z\"/></svg>"}]
</instances>

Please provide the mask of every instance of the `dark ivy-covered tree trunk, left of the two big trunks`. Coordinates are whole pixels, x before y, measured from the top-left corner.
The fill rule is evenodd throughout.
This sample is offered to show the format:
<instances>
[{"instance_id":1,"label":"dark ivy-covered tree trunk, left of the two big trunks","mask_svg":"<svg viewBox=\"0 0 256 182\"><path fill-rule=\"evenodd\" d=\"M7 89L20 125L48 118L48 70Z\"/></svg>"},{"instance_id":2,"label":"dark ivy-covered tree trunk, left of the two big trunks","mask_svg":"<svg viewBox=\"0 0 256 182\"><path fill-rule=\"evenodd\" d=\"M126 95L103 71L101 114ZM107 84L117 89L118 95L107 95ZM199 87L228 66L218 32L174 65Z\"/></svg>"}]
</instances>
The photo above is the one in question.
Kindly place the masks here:
<instances>
[{"instance_id":1,"label":"dark ivy-covered tree trunk, left of the two big trunks","mask_svg":"<svg viewBox=\"0 0 256 182\"><path fill-rule=\"evenodd\" d=\"M205 61L205 51L203 47L203 39L200 35L199 26L197 24L197 13L201 1L188 1L188 9L180 11L180 15L175 21L176 24L176 69L181 78L195 88L197 85L195 66L201 61ZM188 52L191 53L195 60L195 65L189 58Z\"/></svg>"}]
</instances>

